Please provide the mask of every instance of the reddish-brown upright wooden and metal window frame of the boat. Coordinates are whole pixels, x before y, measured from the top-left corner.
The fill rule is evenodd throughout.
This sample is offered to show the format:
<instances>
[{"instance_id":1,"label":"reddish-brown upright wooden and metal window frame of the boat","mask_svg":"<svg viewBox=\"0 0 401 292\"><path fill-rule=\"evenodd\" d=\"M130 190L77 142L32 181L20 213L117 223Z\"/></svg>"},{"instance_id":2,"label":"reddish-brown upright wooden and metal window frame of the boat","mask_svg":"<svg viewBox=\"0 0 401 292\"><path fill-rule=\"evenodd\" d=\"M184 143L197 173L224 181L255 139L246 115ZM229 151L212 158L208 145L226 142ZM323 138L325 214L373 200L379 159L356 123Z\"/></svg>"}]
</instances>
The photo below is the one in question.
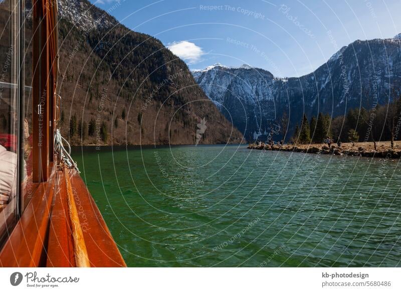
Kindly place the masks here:
<instances>
[{"instance_id":1,"label":"reddish-brown upright wooden and metal window frame of the boat","mask_svg":"<svg viewBox=\"0 0 401 292\"><path fill-rule=\"evenodd\" d=\"M17 178L16 206L6 206L0 214L0 248L10 236L15 225L20 220L29 203L24 190L25 159L24 159L24 119L25 119L25 0L10 0L11 14L11 44L15 45L12 63L16 68L16 82L10 87L15 91L17 121ZM57 0L32 0L32 189L35 193L41 183L47 182L52 173L54 161L53 137L55 128L56 107L55 90L58 73L58 42L57 42ZM14 69L13 69L14 70ZM42 105L42 116L37 109ZM43 120L40 120L42 118ZM41 127L39 126L41 124ZM15 210L14 210L15 208ZM7 210L6 210L7 209ZM8 212L8 213L6 213ZM7 214L7 218L5 215ZM2 218L3 217L3 218Z\"/></svg>"}]
</instances>

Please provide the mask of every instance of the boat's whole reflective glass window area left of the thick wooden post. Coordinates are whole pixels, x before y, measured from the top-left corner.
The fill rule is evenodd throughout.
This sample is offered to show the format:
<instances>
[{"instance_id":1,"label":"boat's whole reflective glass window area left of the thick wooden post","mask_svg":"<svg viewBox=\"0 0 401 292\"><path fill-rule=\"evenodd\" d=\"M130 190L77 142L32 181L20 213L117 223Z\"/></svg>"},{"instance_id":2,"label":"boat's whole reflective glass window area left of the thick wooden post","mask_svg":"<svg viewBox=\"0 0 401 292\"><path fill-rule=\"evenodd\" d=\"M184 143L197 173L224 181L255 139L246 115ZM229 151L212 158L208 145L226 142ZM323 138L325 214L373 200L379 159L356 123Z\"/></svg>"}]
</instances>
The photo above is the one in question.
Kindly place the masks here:
<instances>
[{"instance_id":1,"label":"boat's whole reflective glass window area left of the thick wooden post","mask_svg":"<svg viewBox=\"0 0 401 292\"><path fill-rule=\"evenodd\" d=\"M0 1L0 246L32 196L32 5L20 3Z\"/></svg>"}]
</instances>

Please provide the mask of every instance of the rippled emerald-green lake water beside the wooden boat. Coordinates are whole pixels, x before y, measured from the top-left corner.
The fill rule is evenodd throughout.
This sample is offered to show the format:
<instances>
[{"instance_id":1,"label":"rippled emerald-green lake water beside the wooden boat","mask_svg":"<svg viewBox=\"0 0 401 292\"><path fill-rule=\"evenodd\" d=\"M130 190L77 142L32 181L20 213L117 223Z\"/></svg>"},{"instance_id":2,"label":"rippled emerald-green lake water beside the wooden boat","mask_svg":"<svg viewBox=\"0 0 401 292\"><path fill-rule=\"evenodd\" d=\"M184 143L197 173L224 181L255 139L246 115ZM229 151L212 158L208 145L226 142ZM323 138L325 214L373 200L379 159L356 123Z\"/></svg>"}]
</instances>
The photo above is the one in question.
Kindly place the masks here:
<instances>
[{"instance_id":1,"label":"rippled emerald-green lake water beside the wooden boat","mask_svg":"<svg viewBox=\"0 0 401 292\"><path fill-rule=\"evenodd\" d=\"M398 161L75 148L128 266L401 266Z\"/></svg>"}]
</instances>

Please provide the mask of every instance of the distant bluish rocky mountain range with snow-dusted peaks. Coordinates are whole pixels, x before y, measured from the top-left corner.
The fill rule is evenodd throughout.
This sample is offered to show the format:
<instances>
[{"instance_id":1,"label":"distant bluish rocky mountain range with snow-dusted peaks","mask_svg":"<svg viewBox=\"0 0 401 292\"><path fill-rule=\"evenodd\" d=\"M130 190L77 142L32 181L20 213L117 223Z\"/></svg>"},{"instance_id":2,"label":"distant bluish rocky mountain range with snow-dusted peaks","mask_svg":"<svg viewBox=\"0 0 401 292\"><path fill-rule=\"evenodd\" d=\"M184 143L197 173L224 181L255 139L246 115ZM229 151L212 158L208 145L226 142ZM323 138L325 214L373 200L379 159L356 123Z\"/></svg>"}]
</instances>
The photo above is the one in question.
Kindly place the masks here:
<instances>
[{"instance_id":1,"label":"distant bluish rocky mountain range with snow-dusted peaks","mask_svg":"<svg viewBox=\"0 0 401 292\"><path fill-rule=\"evenodd\" d=\"M401 86L401 34L392 39L357 40L341 48L314 72L277 78L269 71L221 64L192 72L196 82L248 140L290 119L289 135L305 112L332 117L351 108L388 102Z\"/></svg>"}]
</instances>

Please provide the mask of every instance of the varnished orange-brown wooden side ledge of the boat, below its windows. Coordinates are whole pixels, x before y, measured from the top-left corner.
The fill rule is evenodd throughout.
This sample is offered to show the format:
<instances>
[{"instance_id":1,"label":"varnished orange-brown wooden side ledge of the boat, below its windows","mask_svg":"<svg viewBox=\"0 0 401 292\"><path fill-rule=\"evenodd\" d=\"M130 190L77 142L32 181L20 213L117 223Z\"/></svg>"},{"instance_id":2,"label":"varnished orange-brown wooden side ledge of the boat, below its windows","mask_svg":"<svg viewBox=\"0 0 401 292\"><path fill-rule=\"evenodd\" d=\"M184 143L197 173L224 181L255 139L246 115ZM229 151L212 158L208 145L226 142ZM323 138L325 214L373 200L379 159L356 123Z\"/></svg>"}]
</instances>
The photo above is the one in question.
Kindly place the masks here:
<instances>
[{"instance_id":1,"label":"varnished orange-brown wooden side ledge of the boat, below its windows","mask_svg":"<svg viewBox=\"0 0 401 292\"><path fill-rule=\"evenodd\" d=\"M0 252L0 266L126 266L79 174L55 164L50 173Z\"/></svg>"}]
</instances>

